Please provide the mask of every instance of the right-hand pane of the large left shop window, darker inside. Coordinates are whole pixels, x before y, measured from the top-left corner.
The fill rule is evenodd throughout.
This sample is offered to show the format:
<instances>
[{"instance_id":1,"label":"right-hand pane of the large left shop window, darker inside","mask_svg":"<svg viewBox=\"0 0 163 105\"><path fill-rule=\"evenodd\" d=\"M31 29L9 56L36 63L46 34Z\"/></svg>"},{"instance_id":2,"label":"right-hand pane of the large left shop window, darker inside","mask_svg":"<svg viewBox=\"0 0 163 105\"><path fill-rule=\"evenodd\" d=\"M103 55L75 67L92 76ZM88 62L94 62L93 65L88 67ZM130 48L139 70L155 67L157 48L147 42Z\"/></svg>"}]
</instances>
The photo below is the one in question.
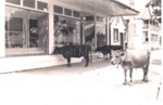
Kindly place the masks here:
<instances>
[{"instance_id":1,"label":"right-hand pane of the large left shop window, darker inside","mask_svg":"<svg viewBox=\"0 0 163 105\"><path fill-rule=\"evenodd\" d=\"M48 44L48 14L29 12L29 48L47 49Z\"/></svg>"}]
</instances>

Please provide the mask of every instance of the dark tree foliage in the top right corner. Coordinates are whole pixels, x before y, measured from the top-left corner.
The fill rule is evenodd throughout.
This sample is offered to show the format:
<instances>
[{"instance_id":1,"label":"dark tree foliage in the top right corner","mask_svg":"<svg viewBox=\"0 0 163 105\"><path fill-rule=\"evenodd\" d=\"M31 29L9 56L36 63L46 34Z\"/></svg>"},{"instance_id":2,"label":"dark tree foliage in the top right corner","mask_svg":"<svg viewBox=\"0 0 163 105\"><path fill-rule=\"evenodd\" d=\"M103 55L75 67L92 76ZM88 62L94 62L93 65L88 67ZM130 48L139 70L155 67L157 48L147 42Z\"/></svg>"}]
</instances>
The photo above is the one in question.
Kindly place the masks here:
<instances>
[{"instance_id":1,"label":"dark tree foliage in the top right corner","mask_svg":"<svg viewBox=\"0 0 163 105\"><path fill-rule=\"evenodd\" d=\"M146 6L152 10L152 18L161 23L161 0L150 0Z\"/></svg>"}]
</instances>

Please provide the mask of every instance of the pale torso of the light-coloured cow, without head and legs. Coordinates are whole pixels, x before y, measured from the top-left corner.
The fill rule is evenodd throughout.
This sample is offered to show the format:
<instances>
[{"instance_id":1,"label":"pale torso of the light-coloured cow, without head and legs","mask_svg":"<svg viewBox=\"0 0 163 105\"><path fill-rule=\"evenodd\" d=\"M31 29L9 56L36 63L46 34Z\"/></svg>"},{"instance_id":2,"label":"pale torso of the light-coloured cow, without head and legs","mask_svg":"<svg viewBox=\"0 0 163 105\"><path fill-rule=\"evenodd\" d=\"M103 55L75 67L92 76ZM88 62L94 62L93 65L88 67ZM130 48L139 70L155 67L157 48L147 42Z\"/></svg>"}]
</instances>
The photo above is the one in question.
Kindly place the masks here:
<instances>
[{"instance_id":1,"label":"pale torso of the light-coloured cow, without head and legs","mask_svg":"<svg viewBox=\"0 0 163 105\"><path fill-rule=\"evenodd\" d=\"M125 51L123 62L130 63L133 67L145 67L150 62L148 50L128 49Z\"/></svg>"}]
</instances>

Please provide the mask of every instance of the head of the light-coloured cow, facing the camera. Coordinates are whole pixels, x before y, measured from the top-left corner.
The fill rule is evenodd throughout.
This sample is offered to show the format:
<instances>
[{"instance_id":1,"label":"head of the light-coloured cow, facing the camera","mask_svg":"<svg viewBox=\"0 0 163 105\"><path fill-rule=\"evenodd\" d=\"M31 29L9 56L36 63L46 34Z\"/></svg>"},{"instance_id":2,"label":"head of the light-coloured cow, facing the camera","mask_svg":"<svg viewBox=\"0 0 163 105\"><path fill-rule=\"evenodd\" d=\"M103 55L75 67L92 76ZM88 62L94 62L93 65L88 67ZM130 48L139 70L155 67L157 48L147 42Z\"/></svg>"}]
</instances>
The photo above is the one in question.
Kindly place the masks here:
<instances>
[{"instance_id":1,"label":"head of the light-coloured cow, facing the camera","mask_svg":"<svg viewBox=\"0 0 163 105\"><path fill-rule=\"evenodd\" d=\"M122 61L122 56L124 55L124 52L121 51L121 50L112 50L111 51L111 55L112 55L112 58L111 58L111 64L112 65L115 65L115 64L120 64L121 61Z\"/></svg>"}]
</instances>

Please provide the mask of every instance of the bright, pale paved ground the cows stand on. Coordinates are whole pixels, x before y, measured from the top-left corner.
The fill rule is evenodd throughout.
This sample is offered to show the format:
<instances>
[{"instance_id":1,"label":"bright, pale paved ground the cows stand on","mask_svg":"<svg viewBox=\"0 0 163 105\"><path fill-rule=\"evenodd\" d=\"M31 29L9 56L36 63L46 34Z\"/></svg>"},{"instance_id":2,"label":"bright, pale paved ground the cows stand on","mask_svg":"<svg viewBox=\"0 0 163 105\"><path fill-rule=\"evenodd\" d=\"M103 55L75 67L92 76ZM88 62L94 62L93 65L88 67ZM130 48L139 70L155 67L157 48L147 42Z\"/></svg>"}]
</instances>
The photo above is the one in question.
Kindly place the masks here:
<instances>
[{"instance_id":1,"label":"bright, pale paved ground the cows stand on","mask_svg":"<svg viewBox=\"0 0 163 105\"><path fill-rule=\"evenodd\" d=\"M0 75L0 105L161 105L155 100L161 66L150 65L149 82L134 70L134 84L109 61ZM128 78L129 79L129 78Z\"/></svg>"}]
</instances>

